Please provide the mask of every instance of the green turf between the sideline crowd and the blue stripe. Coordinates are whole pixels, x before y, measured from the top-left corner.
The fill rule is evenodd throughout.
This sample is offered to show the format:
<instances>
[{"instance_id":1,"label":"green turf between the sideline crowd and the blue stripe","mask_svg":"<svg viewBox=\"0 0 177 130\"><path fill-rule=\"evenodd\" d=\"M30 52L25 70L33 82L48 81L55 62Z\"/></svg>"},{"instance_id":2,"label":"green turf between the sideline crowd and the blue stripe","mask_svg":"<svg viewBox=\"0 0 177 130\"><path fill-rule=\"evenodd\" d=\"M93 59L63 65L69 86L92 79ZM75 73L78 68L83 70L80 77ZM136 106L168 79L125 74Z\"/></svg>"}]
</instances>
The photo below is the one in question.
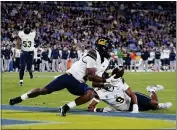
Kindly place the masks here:
<instances>
[{"instance_id":1,"label":"green turf between the sideline crowd and the blue stripe","mask_svg":"<svg viewBox=\"0 0 177 130\"><path fill-rule=\"evenodd\" d=\"M35 73L35 76L41 76L34 79L28 77L28 73L25 74L24 86L19 86L17 73L3 73L2 74L2 104L8 104L8 99L19 96L33 88L43 87L53 80L52 76L58 75L58 73ZM46 77L45 77L46 76ZM50 77L51 76L51 77ZM165 90L158 92L160 102L170 101L173 106L170 110L161 110L155 112L162 113L176 113L176 74L175 73L125 73L125 81L132 88L133 91L142 92L149 95L146 91L146 86L150 84L161 84L165 87ZM66 96L67 95L67 96ZM20 105L30 106L46 106L46 107L58 107L65 104L67 101L72 101L76 96L71 95L67 90L60 92L54 92L50 95L40 96L34 99L26 100ZM57 99L57 100L56 100ZM104 103L100 103L99 106L105 106ZM87 105L80 106L81 108L87 108Z\"/></svg>"}]
</instances>

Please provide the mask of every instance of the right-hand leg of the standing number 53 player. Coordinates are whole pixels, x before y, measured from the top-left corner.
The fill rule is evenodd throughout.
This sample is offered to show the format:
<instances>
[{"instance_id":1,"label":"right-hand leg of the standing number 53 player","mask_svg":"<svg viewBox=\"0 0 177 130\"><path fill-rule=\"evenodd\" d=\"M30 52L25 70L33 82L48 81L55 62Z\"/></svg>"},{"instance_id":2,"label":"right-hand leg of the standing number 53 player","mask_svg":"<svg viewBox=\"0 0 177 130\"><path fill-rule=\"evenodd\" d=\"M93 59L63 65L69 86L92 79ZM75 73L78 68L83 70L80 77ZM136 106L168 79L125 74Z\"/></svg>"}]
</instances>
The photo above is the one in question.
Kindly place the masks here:
<instances>
[{"instance_id":1,"label":"right-hand leg of the standing number 53 player","mask_svg":"<svg viewBox=\"0 0 177 130\"><path fill-rule=\"evenodd\" d=\"M34 59L34 52L28 52L27 56L27 70L29 72L30 78L33 78L33 71L32 71L32 65L33 65L33 59Z\"/></svg>"}]
</instances>

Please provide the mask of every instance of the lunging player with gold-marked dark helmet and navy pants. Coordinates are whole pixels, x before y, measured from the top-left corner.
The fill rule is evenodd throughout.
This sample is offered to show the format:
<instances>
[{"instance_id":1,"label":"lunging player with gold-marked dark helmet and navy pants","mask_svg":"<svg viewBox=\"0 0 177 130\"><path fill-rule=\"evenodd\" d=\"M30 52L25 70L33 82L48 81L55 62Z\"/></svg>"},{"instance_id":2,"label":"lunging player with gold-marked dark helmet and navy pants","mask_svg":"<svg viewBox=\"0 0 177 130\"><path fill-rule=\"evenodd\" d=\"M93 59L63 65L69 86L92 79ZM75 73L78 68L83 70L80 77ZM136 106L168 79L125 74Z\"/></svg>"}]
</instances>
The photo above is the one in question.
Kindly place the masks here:
<instances>
[{"instance_id":1,"label":"lunging player with gold-marked dark helmet and navy pants","mask_svg":"<svg viewBox=\"0 0 177 130\"><path fill-rule=\"evenodd\" d=\"M85 83L85 79L104 83L114 80L113 77L104 79L95 75L97 68L104 62L104 58L109 58L109 49L112 47L111 43L111 40L108 38L99 38L95 43L96 49L87 51L65 74L58 76L43 88L36 88L21 96L10 99L9 104L18 104L28 98L51 94L54 91L66 88L71 94L79 96L75 101L60 108L61 116L66 116L66 112L69 109L90 101L96 95L95 91Z\"/></svg>"}]
</instances>

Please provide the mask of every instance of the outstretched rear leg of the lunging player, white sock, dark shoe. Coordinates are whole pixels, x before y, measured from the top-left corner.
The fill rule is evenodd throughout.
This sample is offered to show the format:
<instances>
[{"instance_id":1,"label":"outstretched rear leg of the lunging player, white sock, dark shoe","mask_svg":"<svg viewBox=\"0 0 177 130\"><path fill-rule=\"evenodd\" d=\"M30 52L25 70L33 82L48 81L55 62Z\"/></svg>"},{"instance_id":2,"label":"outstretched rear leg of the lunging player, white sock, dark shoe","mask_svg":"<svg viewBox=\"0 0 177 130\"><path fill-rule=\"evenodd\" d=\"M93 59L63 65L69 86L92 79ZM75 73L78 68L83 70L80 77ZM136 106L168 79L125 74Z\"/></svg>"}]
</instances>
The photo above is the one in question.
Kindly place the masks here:
<instances>
[{"instance_id":1,"label":"outstretched rear leg of the lunging player, white sock, dark shoe","mask_svg":"<svg viewBox=\"0 0 177 130\"><path fill-rule=\"evenodd\" d=\"M67 82L68 82L68 75L67 74L61 75L55 78L53 81L51 81L48 85L46 85L43 88L35 88L33 90L30 90L27 93L22 94L21 96L10 99L9 104L15 105L28 98L35 98L40 95L50 94L54 91L60 91L67 86L66 84Z\"/></svg>"}]
</instances>

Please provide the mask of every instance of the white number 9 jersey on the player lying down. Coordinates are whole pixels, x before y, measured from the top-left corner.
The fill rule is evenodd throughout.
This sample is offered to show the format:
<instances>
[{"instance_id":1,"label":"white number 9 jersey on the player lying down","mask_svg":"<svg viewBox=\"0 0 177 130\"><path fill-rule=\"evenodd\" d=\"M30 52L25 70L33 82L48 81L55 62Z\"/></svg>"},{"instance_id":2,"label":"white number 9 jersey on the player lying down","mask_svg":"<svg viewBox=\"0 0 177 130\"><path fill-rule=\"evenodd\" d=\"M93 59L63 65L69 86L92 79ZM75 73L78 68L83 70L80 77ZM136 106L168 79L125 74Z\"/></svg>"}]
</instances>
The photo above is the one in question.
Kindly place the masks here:
<instances>
[{"instance_id":1,"label":"white number 9 jersey on the player lying down","mask_svg":"<svg viewBox=\"0 0 177 130\"><path fill-rule=\"evenodd\" d=\"M114 110L127 111L129 110L131 98L125 93L129 88L126 83L123 83L122 78L114 83L112 90L97 89L96 92L100 99L110 105Z\"/></svg>"}]
</instances>

